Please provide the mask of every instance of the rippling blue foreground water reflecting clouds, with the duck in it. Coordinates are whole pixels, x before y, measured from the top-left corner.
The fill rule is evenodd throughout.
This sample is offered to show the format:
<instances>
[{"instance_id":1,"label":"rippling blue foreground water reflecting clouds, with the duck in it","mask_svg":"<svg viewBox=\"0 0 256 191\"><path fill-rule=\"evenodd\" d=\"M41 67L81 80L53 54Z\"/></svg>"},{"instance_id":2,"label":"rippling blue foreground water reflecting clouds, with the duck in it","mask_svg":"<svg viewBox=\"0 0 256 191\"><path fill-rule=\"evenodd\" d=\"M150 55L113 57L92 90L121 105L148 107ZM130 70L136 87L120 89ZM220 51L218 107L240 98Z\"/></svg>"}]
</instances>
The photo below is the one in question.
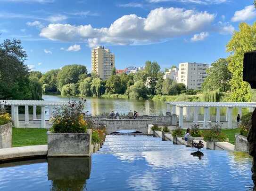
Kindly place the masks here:
<instances>
[{"instance_id":1,"label":"rippling blue foreground water reflecting clouds, with the duck in it","mask_svg":"<svg viewBox=\"0 0 256 191\"><path fill-rule=\"evenodd\" d=\"M91 158L0 164L0 191L252 191L246 153L196 151L152 136L108 135Z\"/></svg>"}]
</instances>

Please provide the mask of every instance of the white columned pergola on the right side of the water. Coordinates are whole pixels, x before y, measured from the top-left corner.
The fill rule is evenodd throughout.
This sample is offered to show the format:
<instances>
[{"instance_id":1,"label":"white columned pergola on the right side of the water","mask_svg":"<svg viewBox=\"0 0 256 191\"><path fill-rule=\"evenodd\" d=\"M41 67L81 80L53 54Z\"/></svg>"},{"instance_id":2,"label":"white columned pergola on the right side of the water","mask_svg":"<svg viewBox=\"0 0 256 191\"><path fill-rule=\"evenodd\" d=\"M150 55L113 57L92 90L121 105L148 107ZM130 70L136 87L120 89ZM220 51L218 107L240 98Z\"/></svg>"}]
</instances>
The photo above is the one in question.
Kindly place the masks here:
<instances>
[{"instance_id":1,"label":"white columned pergola on the right side of the water","mask_svg":"<svg viewBox=\"0 0 256 191\"><path fill-rule=\"evenodd\" d=\"M199 107L204 108L204 122L203 127L206 128L208 121L210 119L210 107L216 108L216 122L220 122L220 108L226 107L227 114L226 114L226 121L228 122L228 128L232 128L232 109L237 107L238 113L242 116L242 108L255 108L255 102L166 102L167 104L167 112L171 112L176 114L176 107L179 107L180 114L179 114L179 126L183 127L183 107L187 109L187 120L188 120L188 113L191 107L194 108L194 123L198 123L198 109ZM170 108L172 107L172 111Z\"/></svg>"}]
</instances>

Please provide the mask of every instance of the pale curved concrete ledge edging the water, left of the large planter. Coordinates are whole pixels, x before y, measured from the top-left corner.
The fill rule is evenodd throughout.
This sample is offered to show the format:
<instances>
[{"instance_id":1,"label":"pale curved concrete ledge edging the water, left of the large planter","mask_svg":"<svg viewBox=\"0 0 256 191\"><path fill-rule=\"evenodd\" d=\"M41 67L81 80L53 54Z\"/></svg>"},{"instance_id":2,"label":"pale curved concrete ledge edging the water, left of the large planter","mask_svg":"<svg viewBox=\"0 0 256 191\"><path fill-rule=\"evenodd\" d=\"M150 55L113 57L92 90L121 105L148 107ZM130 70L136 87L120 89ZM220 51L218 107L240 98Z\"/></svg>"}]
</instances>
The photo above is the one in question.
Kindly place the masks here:
<instances>
[{"instance_id":1,"label":"pale curved concrete ledge edging the water, left of the large planter","mask_svg":"<svg viewBox=\"0 0 256 191\"><path fill-rule=\"evenodd\" d=\"M21 146L0 149L0 162L6 160L17 160L23 158L33 158L47 156L47 145Z\"/></svg>"}]
</instances>

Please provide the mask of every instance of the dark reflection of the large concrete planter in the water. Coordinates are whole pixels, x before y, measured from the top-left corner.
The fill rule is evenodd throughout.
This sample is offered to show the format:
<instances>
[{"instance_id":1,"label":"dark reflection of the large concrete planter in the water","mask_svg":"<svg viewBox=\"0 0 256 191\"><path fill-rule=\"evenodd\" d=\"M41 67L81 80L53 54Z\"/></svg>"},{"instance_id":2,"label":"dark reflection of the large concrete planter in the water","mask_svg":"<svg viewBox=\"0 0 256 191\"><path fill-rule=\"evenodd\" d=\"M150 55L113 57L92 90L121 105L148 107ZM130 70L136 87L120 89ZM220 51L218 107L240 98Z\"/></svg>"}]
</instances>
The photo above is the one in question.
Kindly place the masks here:
<instances>
[{"instance_id":1,"label":"dark reflection of the large concrete planter in the water","mask_svg":"<svg viewBox=\"0 0 256 191\"><path fill-rule=\"evenodd\" d=\"M91 157L48 158L51 191L83 191L91 174Z\"/></svg>"}]
</instances>

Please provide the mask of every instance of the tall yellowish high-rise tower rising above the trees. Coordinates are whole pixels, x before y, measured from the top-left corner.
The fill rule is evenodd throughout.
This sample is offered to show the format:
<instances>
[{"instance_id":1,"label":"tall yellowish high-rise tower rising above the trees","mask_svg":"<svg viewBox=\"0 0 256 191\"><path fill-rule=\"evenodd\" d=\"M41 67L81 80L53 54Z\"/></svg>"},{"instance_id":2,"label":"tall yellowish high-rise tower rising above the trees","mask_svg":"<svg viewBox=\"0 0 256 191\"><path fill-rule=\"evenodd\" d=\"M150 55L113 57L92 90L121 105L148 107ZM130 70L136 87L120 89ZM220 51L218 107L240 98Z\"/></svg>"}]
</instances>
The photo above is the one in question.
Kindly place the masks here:
<instances>
[{"instance_id":1,"label":"tall yellowish high-rise tower rising above the trees","mask_svg":"<svg viewBox=\"0 0 256 191\"><path fill-rule=\"evenodd\" d=\"M102 80L107 80L115 67L115 55L104 46L91 49L91 72L95 72Z\"/></svg>"}]
</instances>

